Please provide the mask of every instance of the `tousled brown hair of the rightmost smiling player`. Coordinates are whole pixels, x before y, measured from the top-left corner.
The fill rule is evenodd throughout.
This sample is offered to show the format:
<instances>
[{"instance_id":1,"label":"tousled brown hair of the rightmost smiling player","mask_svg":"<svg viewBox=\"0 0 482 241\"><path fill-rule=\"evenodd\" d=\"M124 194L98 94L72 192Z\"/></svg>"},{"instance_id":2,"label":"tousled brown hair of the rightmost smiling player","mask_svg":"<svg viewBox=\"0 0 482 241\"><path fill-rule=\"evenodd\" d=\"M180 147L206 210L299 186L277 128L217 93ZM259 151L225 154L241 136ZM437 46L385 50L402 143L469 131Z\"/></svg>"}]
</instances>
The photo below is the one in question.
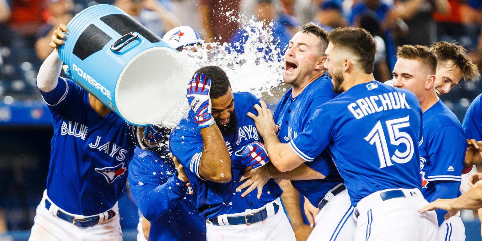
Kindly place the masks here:
<instances>
[{"instance_id":1,"label":"tousled brown hair of the rightmost smiling player","mask_svg":"<svg viewBox=\"0 0 482 241\"><path fill-rule=\"evenodd\" d=\"M472 63L467 50L457 42L436 42L430 45L430 51L437 57L439 65L452 60L454 67L458 67L462 72L464 80L474 81L476 76L480 76L479 68Z\"/></svg>"}]
</instances>

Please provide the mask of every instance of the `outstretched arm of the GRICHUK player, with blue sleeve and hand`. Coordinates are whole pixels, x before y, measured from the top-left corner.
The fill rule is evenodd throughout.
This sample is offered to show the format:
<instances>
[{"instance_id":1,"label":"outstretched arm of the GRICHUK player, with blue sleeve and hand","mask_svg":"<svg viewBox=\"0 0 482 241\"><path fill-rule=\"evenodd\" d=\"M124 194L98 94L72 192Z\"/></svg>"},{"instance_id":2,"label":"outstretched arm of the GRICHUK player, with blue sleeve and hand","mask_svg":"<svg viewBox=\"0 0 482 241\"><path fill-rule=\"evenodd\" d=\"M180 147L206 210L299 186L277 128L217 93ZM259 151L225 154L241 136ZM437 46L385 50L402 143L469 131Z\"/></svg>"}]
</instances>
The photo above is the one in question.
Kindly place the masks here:
<instances>
[{"instance_id":1,"label":"outstretched arm of the GRICHUK player, with blue sleeve and hand","mask_svg":"<svg viewBox=\"0 0 482 241\"><path fill-rule=\"evenodd\" d=\"M276 135L278 126L273 120L271 110L263 101L254 108L258 115L247 115L254 120L258 133L263 136L271 163L281 172L291 171L305 161L313 161L329 143L327 140L331 136L332 122L327 121L324 111L317 110L305 130L295 139L289 143L281 143ZM319 124L321 120L324 121L322 127Z\"/></svg>"}]
</instances>

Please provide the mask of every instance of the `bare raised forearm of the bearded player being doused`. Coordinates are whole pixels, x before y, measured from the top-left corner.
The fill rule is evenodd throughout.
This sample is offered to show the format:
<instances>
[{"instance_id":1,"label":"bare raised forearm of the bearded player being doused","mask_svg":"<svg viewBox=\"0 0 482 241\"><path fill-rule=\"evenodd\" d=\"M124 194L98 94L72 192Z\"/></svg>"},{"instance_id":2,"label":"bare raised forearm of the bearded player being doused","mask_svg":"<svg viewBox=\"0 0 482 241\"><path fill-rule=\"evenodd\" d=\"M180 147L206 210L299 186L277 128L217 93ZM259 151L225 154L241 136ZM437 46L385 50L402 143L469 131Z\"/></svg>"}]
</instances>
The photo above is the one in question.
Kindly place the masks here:
<instances>
[{"instance_id":1,"label":"bare raised forearm of the bearded player being doused","mask_svg":"<svg viewBox=\"0 0 482 241\"><path fill-rule=\"evenodd\" d=\"M216 124L201 129L203 151L199 174L213 182L231 180L231 156Z\"/></svg>"}]
</instances>

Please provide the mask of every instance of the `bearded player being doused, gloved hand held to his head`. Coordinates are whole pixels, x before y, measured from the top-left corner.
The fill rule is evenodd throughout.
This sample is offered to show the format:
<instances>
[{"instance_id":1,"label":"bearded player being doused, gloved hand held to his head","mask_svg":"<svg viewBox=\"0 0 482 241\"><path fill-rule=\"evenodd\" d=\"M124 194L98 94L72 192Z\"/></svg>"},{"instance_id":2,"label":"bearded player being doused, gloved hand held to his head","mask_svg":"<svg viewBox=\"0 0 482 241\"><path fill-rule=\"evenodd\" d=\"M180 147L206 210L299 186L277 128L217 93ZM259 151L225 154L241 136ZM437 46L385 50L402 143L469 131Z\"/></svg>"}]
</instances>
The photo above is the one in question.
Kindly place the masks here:
<instances>
[{"instance_id":1,"label":"bearded player being doused, gloved hand held to his head","mask_svg":"<svg viewBox=\"0 0 482 241\"><path fill-rule=\"evenodd\" d=\"M226 73L215 66L196 71L187 98L191 111L174 128L169 144L187 169L206 220L207 240L295 240L278 184L269 180L259 196L241 198L235 191L246 167L269 161L253 120L246 116L257 98L233 94Z\"/></svg>"}]
</instances>

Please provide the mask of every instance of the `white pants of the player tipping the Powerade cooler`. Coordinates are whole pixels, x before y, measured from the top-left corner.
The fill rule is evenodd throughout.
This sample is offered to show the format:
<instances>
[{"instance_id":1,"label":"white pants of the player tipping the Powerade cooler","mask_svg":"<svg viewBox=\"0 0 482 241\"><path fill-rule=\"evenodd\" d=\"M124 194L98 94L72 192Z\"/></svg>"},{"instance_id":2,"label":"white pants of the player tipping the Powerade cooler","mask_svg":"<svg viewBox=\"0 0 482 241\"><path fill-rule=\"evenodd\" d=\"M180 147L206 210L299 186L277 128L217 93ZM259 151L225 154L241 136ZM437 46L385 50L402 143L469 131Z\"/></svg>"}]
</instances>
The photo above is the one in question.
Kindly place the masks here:
<instances>
[{"instance_id":1,"label":"white pants of the player tipping the Powerade cooler","mask_svg":"<svg viewBox=\"0 0 482 241\"><path fill-rule=\"evenodd\" d=\"M28 241L122 241L122 230L120 229L119 207L117 203L112 207L116 213L114 217L89 228L78 228L56 215L60 208L53 202L50 209L45 208L45 200L47 199L47 190L43 192L42 201L37 206L37 215L34 218L34 224ZM63 210L61 210L63 211ZM63 211L65 212L65 211ZM67 213L67 212L65 212ZM67 213L68 214L68 213ZM84 218L82 215L75 215Z\"/></svg>"}]
</instances>

